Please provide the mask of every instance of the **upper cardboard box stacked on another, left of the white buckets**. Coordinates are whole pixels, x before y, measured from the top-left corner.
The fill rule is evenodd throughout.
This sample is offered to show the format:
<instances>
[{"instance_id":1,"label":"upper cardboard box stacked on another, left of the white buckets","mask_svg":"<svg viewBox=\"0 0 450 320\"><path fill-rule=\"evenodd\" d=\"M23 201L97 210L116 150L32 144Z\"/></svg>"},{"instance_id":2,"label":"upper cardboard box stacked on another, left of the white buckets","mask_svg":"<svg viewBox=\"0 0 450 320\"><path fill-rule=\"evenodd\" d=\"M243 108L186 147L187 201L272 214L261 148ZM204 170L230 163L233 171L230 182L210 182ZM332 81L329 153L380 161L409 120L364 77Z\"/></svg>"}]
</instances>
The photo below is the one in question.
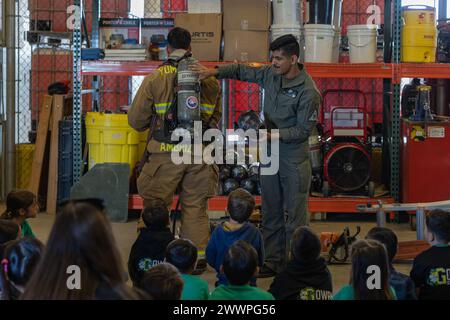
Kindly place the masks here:
<instances>
[{"instance_id":1,"label":"upper cardboard box stacked on another, left of the white buckets","mask_svg":"<svg viewBox=\"0 0 450 320\"><path fill-rule=\"evenodd\" d=\"M267 31L271 8L270 0L224 0L223 30Z\"/></svg>"}]
</instances>

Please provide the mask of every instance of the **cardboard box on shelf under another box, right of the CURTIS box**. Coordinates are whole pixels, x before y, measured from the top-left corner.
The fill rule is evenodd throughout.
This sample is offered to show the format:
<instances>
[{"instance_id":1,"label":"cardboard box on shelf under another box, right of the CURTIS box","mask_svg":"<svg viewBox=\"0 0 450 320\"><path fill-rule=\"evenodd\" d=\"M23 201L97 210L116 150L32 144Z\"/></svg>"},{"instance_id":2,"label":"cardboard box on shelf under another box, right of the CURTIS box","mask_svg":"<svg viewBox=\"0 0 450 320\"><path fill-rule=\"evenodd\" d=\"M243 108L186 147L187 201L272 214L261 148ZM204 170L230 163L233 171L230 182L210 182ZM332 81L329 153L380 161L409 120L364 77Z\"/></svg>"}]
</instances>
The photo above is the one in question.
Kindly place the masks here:
<instances>
[{"instance_id":1,"label":"cardboard box on shelf under another box, right of the CURTIS box","mask_svg":"<svg viewBox=\"0 0 450 320\"><path fill-rule=\"evenodd\" d=\"M225 30L224 61L264 62L269 59L268 31Z\"/></svg>"}]
</instances>

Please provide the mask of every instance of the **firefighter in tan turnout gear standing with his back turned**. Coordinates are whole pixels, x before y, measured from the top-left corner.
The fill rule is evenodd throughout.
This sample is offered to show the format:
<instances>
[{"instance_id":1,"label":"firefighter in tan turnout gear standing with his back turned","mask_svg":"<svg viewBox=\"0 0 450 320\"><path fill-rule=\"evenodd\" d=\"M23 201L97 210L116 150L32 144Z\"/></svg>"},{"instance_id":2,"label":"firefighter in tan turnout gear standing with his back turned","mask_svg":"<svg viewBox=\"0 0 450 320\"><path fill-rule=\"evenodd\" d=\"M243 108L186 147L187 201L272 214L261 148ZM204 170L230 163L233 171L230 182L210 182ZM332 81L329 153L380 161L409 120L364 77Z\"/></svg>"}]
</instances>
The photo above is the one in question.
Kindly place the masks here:
<instances>
[{"instance_id":1,"label":"firefighter in tan turnout gear standing with his back turned","mask_svg":"<svg viewBox=\"0 0 450 320\"><path fill-rule=\"evenodd\" d=\"M147 76L128 111L128 122L138 131L150 128L151 138L147 145L148 159L137 179L139 194L144 206L151 200L162 199L167 206L173 201L175 191L179 190L181 205L181 237L192 240L198 247L197 270L206 269L204 251L209 240L209 219L207 200L216 193L218 170L216 165L175 164L171 152L176 151L178 142L171 141L171 131L167 120L176 116L171 114L174 98L182 97L182 107L197 111L203 129L217 128L221 117L221 97L219 83L214 78L202 80L195 95L180 96L180 77L177 69L183 59L189 58L191 35L182 28L174 28L168 35L169 59L153 74ZM182 84L181 84L182 87ZM194 90L194 89L192 89ZM197 109L198 108L198 109ZM179 114L179 113L178 113ZM172 119L173 120L173 119ZM186 119L180 119L186 122ZM192 121L193 123L193 121ZM153 128L152 128L153 127ZM171 129L171 130L169 130ZM183 146L185 147L185 146ZM190 147L190 145L188 146ZM175 148L175 150L174 150ZM194 148L183 148L183 152Z\"/></svg>"}]
</instances>

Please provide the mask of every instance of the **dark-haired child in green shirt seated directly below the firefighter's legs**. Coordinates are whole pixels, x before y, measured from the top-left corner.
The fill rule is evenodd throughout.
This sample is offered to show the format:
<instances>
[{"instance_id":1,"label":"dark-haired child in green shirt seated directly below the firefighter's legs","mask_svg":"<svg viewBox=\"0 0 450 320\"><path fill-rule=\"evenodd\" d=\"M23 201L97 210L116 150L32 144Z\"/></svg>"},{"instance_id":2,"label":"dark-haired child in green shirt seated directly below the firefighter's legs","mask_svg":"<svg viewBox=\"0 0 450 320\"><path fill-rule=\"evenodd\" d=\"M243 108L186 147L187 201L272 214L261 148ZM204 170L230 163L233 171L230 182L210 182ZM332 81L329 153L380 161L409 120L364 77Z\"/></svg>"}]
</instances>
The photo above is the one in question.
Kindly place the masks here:
<instances>
[{"instance_id":1,"label":"dark-haired child in green shirt seated directly below the firefighter's legs","mask_svg":"<svg viewBox=\"0 0 450 320\"><path fill-rule=\"evenodd\" d=\"M197 255L197 247L187 239L174 240L167 246L165 261L177 267L184 281L181 300L208 300L208 282L192 275Z\"/></svg>"}]
</instances>

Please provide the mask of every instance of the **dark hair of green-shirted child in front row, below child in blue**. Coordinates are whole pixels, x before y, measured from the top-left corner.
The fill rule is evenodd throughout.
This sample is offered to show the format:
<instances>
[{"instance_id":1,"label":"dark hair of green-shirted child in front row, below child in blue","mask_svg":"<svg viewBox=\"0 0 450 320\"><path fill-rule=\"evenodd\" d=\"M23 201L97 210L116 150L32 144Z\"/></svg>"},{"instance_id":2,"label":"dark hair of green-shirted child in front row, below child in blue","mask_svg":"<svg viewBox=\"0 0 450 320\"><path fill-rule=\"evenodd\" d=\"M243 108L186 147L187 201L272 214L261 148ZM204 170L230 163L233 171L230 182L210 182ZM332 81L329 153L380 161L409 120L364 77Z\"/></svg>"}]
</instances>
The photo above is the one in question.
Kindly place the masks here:
<instances>
[{"instance_id":1,"label":"dark hair of green-shirted child in front row, below child in blue","mask_svg":"<svg viewBox=\"0 0 450 320\"><path fill-rule=\"evenodd\" d=\"M244 240L236 241L223 258L223 272L231 285L249 283L257 267L258 253Z\"/></svg>"}]
</instances>

